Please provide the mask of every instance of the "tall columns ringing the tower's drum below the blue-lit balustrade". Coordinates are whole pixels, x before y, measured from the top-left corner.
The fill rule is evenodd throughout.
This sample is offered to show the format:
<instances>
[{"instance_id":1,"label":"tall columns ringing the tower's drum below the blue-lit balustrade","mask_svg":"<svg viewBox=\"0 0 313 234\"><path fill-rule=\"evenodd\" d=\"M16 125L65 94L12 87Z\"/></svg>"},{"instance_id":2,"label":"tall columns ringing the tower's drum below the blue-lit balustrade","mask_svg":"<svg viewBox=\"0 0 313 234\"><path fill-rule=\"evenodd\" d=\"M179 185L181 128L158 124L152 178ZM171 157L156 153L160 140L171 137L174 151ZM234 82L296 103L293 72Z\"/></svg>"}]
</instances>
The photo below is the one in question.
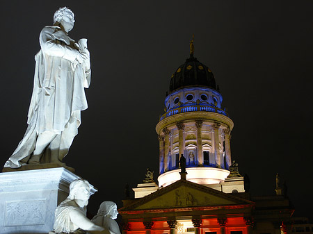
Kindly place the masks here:
<instances>
[{"instance_id":1,"label":"tall columns ringing the tower's drum below the blue-lit balustrade","mask_svg":"<svg viewBox=\"0 0 313 234\"><path fill-rule=\"evenodd\" d=\"M195 133L196 133L196 142L197 142L197 160L195 160L195 166L202 167L204 165L204 155L203 155L203 142L202 142L202 128L204 126L204 122L201 119L195 120ZM207 126L207 124L206 124ZM231 165L231 151L230 151L230 128L222 128L223 130L220 131L221 126L220 123L214 122L210 124L210 132L211 132L211 153L214 155L214 160L216 167L228 169ZM175 126L178 130L178 153L179 153L179 160L182 154L186 151L186 145L184 140L184 133L185 133L185 124L184 122L177 122ZM170 142L170 134L171 131L169 128L165 127L162 129L161 135L159 135L159 172L162 174L163 172L170 171L170 149L171 149L171 142ZM220 142L220 133L223 135L222 141ZM224 163L224 156L223 153L220 153L220 143L223 147L223 142L225 142L225 162ZM187 156L184 155L185 158Z\"/></svg>"}]
</instances>

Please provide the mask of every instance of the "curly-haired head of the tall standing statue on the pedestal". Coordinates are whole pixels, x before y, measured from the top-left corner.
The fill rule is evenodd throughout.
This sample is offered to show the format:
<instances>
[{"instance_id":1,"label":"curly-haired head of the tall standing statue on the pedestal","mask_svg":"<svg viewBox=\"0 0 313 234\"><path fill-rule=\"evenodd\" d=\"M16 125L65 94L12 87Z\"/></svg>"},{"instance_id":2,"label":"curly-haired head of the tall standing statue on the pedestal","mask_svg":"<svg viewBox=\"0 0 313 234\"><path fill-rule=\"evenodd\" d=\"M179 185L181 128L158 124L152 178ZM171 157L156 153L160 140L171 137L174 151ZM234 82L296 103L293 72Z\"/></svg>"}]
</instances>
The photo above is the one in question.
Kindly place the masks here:
<instances>
[{"instance_id":1,"label":"curly-haired head of the tall standing statue on the pedestal","mask_svg":"<svg viewBox=\"0 0 313 234\"><path fill-rule=\"evenodd\" d=\"M74 27L74 22L74 12L66 6L54 13L54 25L61 24L67 33Z\"/></svg>"}]
</instances>

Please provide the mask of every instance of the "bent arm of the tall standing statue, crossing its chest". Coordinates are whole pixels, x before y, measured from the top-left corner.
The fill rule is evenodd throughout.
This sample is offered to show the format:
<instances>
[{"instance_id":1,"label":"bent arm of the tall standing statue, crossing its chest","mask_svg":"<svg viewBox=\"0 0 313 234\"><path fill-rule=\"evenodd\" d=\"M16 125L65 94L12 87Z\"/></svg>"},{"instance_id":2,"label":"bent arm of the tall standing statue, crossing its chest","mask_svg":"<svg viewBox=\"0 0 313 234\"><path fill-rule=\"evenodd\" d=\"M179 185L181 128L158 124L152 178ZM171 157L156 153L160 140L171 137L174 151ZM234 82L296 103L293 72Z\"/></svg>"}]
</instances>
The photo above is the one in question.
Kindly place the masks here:
<instances>
[{"instance_id":1,"label":"bent arm of the tall standing statue, crossing its chest","mask_svg":"<svg viewBox=\"0 0 313 234\"><path fill-rule=\"evenodd\" d=\"M40 33L40 47L42 52L49 56L57 56L74 62L75 59L81 57L77 49L68 47L65 44L56 43L55 27L45 27Z\"/></svg>"}]
</instances>

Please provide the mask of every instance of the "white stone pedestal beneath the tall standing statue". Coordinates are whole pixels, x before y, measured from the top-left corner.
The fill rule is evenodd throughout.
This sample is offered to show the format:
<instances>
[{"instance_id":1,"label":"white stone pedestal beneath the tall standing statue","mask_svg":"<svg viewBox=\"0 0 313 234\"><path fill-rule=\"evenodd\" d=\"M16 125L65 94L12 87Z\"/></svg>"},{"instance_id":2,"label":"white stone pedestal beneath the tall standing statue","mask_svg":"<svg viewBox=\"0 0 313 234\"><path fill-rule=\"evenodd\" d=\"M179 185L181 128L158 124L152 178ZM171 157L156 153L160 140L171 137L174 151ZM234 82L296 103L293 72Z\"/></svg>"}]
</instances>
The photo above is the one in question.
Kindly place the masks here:
<instances>
[{"instance_id":1,"label":"white stone pedestal beneath the tall standing statue","mask_svg":"<svg viewBox=\"0 0 313 234\"><path fill-rule=\"evenodd\" d=\"M1 234L53 230L54 211L77 178L63 167L0 173Z\"/></svg>"}]
</instances>

